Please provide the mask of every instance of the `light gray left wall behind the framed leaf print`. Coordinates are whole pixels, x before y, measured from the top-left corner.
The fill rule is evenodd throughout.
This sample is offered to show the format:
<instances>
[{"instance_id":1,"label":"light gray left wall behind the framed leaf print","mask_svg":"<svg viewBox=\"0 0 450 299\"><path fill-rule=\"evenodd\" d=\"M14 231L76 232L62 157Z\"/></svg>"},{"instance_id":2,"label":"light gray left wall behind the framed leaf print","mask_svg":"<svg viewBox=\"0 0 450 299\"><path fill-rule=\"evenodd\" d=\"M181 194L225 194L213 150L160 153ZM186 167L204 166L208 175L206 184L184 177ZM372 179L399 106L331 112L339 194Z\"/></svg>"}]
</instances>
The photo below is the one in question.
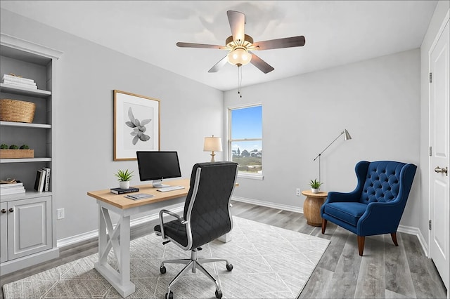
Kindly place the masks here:
<instances>
[{"instance_id":1,"label":"light gray left wall behind the framed leaf print","mask_svg":"<svg viewBox=\"0 0 450 299\"><path fill-rule=\"evenodd\" d=\"M58 240L98 229L86 192L118 187L118 168L139 183L136 161L113 161L114 89L160 100L161 150L179 152L184 177L210 160L203 138L223 131L223 92L5 10L1 32L64 52L53 74L53 206L65 208Z\"/></svg>"}]
</instances>

